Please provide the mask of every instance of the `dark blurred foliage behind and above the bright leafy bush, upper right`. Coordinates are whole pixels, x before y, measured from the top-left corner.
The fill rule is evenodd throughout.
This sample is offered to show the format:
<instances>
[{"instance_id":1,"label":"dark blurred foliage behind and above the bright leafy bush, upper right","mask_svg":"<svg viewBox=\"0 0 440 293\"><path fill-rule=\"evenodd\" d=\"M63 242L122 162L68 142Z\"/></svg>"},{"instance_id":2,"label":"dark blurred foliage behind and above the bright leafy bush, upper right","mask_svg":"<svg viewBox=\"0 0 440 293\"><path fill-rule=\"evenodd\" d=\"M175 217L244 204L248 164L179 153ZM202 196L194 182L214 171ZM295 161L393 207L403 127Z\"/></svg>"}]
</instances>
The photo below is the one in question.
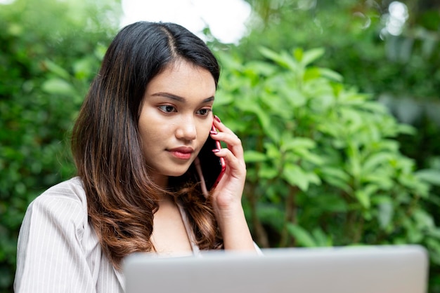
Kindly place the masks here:
<instances>
[{"instance_id":1,"label":"dark blurred foliage behind and above the bright leafy bush, upper right","mask_svg":"<svg viewBox=\"0 0 440 293\"><path fill-rule=\"evenodd\" d=\"M418 178L431 184L429 194L418 201L418 206L434 227L439 226L440 1L246 1L254 11L249 34L229 50L238 62L266 60L268 56L256 50L259 46L278 53L292 48L325 48L323 57L314 63L317 67L337 71L344 76L345 85L354 86L358 93L369 93L371 101L384 104L398 121L414 127L412 134L396 132L392 141L403 156L414 160ZM403 21L397 21L390 9L395 4L403 8L396 11ZM392 27L396 21L397 30ZM298 210L305 210L303 204L308 202L300 203ZM326 225L325 219L316 226L322 225ZM273 231L269 231L268 238L272 238ZM438 244L429 243L430 252L438 254ZM431 275L430 291L440 292L438 261L434 261Z\"/></svg>"}]
</instances>

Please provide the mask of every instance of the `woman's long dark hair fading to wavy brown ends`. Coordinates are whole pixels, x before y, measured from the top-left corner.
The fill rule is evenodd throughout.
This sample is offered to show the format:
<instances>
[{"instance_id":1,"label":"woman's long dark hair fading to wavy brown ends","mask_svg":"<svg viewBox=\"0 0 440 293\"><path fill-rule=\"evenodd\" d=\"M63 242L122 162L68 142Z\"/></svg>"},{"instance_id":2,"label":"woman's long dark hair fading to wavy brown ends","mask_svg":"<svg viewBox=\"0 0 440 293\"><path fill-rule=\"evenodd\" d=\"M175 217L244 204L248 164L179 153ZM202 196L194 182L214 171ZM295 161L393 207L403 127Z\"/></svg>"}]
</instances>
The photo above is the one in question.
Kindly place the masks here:
<instances>
[{"instance_id":1,"label":"woman's long dark hair fading to wavy brown ends","mask_svg":"<svg viewBox=\"0 0 440 293\"><path fill-rule=\"evenodd\" d=\"M146 86L177 60L207 69L217 85L216 58L184 27L162 22L124 27L105 53L73 128L72 153L86 191L89 221L116 268L128 254L154 250L153 215L160 195L169 190L148 177L138 119ZM200 189L174 186L174 191L200 249L221 247L211 205Z\"/></svg>"}]
</instances>

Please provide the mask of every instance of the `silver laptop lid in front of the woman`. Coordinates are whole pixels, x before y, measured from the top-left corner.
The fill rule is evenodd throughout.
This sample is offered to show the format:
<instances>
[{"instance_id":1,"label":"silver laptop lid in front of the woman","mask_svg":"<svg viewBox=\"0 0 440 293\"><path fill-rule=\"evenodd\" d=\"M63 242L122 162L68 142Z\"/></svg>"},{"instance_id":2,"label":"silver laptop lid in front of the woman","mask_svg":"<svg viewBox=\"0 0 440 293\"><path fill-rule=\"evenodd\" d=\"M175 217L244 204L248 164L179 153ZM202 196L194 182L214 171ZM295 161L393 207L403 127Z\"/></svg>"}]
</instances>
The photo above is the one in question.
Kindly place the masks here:
<instances>
[{"instance_id":1,"label":"silver laptop lid in front of the woman","mask_svg":"<svg viewBox=\"0 0 440 293\"><path fill-rule=\"evenodd\" d=\"M127 293L426 293L428 258L418 245L262 250L263 256L134 254Z\"/></svg>"}]
</instances>

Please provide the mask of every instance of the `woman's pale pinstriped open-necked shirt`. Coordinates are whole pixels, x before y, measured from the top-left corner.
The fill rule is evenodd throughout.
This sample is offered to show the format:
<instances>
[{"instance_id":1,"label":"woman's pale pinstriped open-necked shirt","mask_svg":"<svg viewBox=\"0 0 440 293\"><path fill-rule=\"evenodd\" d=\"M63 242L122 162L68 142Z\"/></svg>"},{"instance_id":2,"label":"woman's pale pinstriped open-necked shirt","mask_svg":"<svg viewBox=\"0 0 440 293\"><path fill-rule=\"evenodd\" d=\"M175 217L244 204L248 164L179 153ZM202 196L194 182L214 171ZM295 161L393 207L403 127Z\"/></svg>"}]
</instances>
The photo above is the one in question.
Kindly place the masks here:
<instances>
[{"instance_id":1,"label":"woman's pale pinstriped open-necked shirt","mask_svg":"<svg viewBox=\"0 0 440 293\"><path fill-rule=\"evenodd\" d=\"M193 253L199 254L181 210ZM78 177L51 187L27 208L18 237L15 292L124 292L124 277L101 250Z\"/></svg>"}]
</instances>

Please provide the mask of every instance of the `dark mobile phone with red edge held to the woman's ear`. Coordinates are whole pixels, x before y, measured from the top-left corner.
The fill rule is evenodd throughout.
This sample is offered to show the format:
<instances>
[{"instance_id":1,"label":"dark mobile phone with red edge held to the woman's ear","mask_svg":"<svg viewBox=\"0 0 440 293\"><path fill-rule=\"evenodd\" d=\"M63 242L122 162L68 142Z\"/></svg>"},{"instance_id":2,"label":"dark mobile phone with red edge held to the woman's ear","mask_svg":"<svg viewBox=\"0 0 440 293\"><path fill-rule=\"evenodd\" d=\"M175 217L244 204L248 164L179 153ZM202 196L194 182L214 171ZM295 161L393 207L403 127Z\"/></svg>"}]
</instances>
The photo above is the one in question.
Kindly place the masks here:
<instances>
[{"instance_id":1,"label":"dark mobile phone with red edge held to the woman's ear","mask_svg":"<svg viewBox=\"0 0 440 293\"><path fill-rule=\"evenodd\" d=\"M212 125L212 130L216 131L214 124ZM221 149L221 144L209 135L198 155L200 168L202 169L202 175L208 191L219 183L226 170L225 159L216 156L212 152L213 149Z\"/></svg>"}]
</instances>

